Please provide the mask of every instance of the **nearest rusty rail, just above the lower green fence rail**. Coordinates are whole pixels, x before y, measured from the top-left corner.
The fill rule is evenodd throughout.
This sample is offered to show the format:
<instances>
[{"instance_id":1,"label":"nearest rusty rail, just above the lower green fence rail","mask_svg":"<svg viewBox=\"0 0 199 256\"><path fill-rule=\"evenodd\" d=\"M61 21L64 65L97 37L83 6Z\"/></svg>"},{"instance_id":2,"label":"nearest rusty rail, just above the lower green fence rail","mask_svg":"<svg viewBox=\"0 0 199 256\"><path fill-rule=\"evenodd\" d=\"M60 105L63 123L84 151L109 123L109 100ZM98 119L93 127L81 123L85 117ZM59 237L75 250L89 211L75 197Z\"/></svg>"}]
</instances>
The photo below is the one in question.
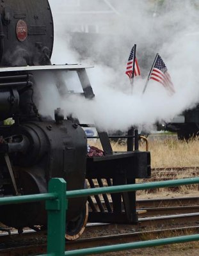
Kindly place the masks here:
<instances>
[{"instance_id":1,"label":"nearest rusty rail, just above the lower green fence rail","mask_svg":"<svg viewBox=\"0 0 199 256\"><path fill-rule=\"evenodd\" d=\"M95 226L97 227L97 226ZM98 227L99 228L99 227ZM106 228L107 230L107 228ZM84 237L78 239L76 241L66 242L65 250L76 250L82 248L91 248L95 246L104 246L111 244L119 244L119 243L132 243L134 241L143 241L149 239L158 239L170 236L182 236L182 234L197 234L199 231L199 226L186 226L186 227L175 227L175 228L161 228L156 230L148 230L148 231L139 231L135 232L130 230L129 232L123 232L118 229L118 234L106 235L105 233L100 236L95 237ZM10 242L8 246L5 248L0 248L1 256L31 256L38 255L40 253L46 253L47 247L47 239L46 236L43 235L42 242L38 242L39 238L37 238L37 243L33 244L33 237L30 240L30 236L27 237L26 234L23 234L23 242L16 243Z\"/></svg>"}]
</instances>

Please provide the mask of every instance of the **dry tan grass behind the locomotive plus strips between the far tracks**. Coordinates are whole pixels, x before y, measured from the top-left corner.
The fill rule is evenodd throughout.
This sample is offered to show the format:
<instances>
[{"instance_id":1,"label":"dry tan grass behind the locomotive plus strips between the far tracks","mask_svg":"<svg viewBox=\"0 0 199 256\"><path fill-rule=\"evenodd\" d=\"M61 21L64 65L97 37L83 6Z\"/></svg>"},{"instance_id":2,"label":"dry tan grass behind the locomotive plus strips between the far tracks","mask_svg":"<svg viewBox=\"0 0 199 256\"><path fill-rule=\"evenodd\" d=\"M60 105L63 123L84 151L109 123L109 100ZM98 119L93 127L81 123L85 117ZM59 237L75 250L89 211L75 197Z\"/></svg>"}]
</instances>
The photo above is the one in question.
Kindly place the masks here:
<instances>
[{"instance_id":1,"label":"dry tan grass behind the locomotive plus strips between the far tracks","mask_svg":"<svg viewBox=\"0 0 199 256\"><path fill-rule=\"evenodd\" d=\"M199 139L186 141L179 141L175 136L161 139L160 136L150 139L149 151L151 154L152 168L166 168L166 167L188 167L199 166ZM102 148L100 142L92 143L95 147ZM119 145L118 143L111 143L113 151L126 151L126 145ZM145 151L145 142L139 143L139 150ZM159 172L157 179L163 178L163 173ZM183 179L187 177L195 177L189 172L177 173L173 179ZM148 181L151 181L148 179ZM143 182L143 180L136 180L136 183ZM144 181L146 182L146 180ZM176 196L196 196L199 195L198 185L180 186L179 188L159 188L155 190L137 191L138 198L157 198L157 197L176 197Z\"/></svg>"}]
</instances>

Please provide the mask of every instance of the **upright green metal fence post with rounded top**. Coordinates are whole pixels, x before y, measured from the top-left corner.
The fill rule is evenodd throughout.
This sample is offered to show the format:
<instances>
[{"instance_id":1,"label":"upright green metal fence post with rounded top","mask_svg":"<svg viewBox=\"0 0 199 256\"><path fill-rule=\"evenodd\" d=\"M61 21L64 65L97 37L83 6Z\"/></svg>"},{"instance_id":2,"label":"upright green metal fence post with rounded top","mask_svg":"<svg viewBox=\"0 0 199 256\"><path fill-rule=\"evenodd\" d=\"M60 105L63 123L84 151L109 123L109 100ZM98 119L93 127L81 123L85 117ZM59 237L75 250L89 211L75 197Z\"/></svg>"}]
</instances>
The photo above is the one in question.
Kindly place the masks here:
<instances>
[{"instance_id":1,"label":"upright green metal fence post with rounded top","mask_svg":"<svg viewBox=\"0 0 199 256\"><path fill-rule=\"evenodd\" d=\"M45 209L48 214L47 253L54 256L65 255L66 198L67 184L64 179L51 179L49 193L57 193L57 200L47 200Z\"/></svg>"}]
</instances>

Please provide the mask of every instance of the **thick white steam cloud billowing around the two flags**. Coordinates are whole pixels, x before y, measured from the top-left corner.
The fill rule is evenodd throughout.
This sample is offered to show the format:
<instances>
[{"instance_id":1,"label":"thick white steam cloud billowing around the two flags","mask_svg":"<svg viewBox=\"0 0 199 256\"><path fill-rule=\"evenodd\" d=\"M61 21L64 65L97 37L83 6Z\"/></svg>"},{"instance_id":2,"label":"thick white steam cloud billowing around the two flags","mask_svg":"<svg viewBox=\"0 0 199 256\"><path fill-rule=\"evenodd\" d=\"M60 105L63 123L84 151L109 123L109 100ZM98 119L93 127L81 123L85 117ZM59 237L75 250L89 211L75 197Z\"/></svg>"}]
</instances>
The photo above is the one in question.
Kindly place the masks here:
<instances>
[{"instance_id":1,"label":"thick white steam cloud billowing around the two flags","mask_svg":"<svg viewBox=\"0 0 199 256\"><path fill-rule=\"evenodd\" d=\"M94 100L79 96L67 99L56 96L53 100L53 107L57 104L65 110L65 115L72 113L82 122L95 123L106 131L124 131L131 125L152 127L157 120L168 121L199 101L197 0L49 2L55 29L52 63L95 65L87 70ZM86 29L95 29L95 33L81 33ZM141 77L135 77L131 93L125 67L134 44ZM157 52L175 86L173 96L152 80L142 95ZM76 80L77 77L71 76L70 84L77 83ZM51 90L53 95L56 87ZM42 113L52 115L51 106L46 102L40 105Z\"/></svg>"}]
</instances>

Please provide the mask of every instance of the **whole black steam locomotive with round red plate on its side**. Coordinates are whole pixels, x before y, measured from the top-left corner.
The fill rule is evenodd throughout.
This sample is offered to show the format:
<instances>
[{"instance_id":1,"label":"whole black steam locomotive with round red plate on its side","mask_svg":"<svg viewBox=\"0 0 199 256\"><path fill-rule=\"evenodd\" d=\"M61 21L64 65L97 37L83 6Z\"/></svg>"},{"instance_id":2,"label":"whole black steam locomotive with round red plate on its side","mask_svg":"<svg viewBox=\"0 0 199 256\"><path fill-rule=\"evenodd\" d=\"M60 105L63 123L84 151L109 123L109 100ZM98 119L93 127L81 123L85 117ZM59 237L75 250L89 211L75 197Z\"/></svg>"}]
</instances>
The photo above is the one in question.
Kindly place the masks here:
<instances>
[{"instance_id":1,"label":"whole black steam locomotive with round red plate on its side","mask_svg":"<svg viewBox=\"0 0 199 256\"><path fill-rule=\"evenodd\" d=\"M53 118L40 115L40 92L51 86L44 77L54 79L60 95L67 95L60 74L76 72L82 96L94 97L86 67L51 65L54 28L48 1L4 0L0 15L0 196L45 193L52 177L67 180L68 190L84 189L88 184L93 188L94 179L99 186L104 186L104 180L107 186L115 186L150 177L150 152L138 150L139 134L132 129L127 136L127 152L113 152L107 133L99 131L104 155L88 157L83 127L89 124L64 118L60 108L54 109ZM4 125L7 118L13 118L14 124ZM110 195L113 206L107 195L102 196L105 206L100 196L69 200L67 239L79 237L87 220L138 221L134 192ZM39 231L47 223L44 202L3 205L0 221L19 233L24 227Z\"/></svg>"}]
</instances>

